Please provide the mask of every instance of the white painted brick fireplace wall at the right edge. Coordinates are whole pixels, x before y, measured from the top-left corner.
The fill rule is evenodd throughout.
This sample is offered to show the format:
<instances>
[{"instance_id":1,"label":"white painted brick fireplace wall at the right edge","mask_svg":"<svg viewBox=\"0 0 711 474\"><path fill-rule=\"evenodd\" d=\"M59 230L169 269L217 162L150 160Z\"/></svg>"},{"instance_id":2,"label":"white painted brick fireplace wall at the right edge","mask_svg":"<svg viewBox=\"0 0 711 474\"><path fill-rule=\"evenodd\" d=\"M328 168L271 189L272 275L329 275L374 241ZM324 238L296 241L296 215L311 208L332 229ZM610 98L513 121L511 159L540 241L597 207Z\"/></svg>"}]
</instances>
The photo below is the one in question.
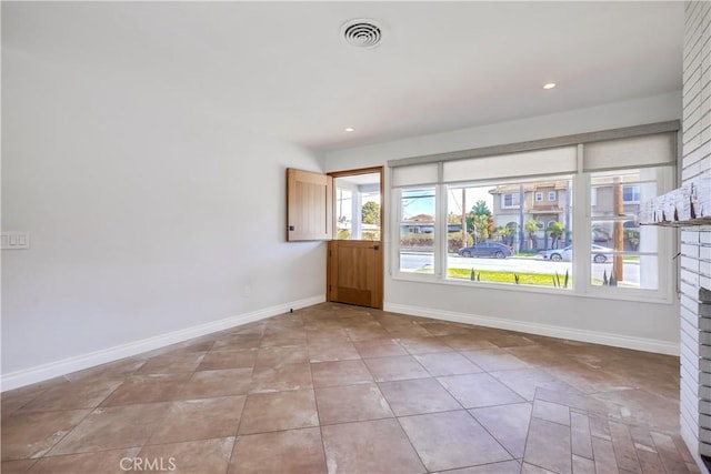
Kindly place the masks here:
<instances>
[{"instance_id":1,"label":"white painted brick fireplace wall at the right edge","mask_svg":"<svg viewBox=\"0 0 711 474\"><path fill-rule=\"evenodd\" d=\"M682 182L711 175L711 2L685 4ZM689 448L711 456L711 226L681 232L681 426Z\"/></svg>"}]
</instances>

